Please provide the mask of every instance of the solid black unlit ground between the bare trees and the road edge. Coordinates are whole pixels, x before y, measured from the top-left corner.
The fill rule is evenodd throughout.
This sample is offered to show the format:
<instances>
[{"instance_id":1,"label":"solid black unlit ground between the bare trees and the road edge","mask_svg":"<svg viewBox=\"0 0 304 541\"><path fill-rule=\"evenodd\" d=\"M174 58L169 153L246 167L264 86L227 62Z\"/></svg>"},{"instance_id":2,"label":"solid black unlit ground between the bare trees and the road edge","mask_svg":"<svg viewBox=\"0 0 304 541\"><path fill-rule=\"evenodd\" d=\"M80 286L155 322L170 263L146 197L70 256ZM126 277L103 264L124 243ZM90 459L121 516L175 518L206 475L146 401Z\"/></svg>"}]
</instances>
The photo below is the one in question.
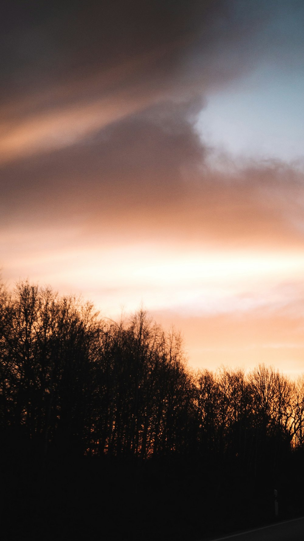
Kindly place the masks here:
<instances>
[{"instance_id":1,"label":"solid black unlit ground between the bare trees and the road edge","mask_svg":"<svg viewBox=\"0 0 304 541\"><path fill-rule=\"evenodd\" d=\"M276 479L280 520L303 514L298 466L297 476L282 471ZM3 541L195 541L274 522L271 472L246 477L210 459L39 458L23 447L22 453L6 454L1 469ZM302 540L303 527L299 519L234 537Z\"/></svg>"}]
</instances>

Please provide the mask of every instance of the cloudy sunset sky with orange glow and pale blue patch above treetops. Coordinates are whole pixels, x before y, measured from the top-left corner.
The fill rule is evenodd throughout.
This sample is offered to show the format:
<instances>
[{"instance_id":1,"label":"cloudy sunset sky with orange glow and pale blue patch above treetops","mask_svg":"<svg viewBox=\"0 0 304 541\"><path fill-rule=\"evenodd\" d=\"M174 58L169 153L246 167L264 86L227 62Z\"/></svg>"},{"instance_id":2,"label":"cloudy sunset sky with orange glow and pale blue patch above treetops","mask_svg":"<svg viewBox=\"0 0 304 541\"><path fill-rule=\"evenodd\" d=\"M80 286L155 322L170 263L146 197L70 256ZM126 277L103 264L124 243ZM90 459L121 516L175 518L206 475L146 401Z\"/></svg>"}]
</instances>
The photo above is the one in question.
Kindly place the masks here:
<instances>
[{"instance_id":1,"label":"cloudy sunset sky with orange glow and pale blue patch above treetops","mask_svg":"<svg viewBox=\"0 0 304 541\"><path fill-rule=\"evenodd\" d=\"M0 266L304 372L302 0L6 0Z\"/></svg>"}]
</instances>

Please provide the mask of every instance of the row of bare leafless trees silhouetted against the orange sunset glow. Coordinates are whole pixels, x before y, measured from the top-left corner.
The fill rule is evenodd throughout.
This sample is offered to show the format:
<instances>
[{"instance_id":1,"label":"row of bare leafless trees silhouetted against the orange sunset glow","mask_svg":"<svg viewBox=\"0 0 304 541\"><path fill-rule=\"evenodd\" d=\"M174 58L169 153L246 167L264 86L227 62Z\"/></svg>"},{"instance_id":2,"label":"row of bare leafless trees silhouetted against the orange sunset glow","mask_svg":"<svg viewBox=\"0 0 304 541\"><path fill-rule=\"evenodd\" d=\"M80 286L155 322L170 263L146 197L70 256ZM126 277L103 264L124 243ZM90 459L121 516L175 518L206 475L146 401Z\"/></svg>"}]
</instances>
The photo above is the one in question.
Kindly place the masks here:
<instances>
[{"instance_id":1,"label":"row of bare leafless trees silhouetted against the orange sunset glow","mask_svg":"<svg viewBox=\"0 0 304 541\"><path fill-rule=\"evenodd\" d=\"M1 429L89 455L239 457L254 469L304 443L304 379L259 366L193 373L178 333L148 315L94 307L19 283L0 292Z\"/></svg>"}]
</instances>

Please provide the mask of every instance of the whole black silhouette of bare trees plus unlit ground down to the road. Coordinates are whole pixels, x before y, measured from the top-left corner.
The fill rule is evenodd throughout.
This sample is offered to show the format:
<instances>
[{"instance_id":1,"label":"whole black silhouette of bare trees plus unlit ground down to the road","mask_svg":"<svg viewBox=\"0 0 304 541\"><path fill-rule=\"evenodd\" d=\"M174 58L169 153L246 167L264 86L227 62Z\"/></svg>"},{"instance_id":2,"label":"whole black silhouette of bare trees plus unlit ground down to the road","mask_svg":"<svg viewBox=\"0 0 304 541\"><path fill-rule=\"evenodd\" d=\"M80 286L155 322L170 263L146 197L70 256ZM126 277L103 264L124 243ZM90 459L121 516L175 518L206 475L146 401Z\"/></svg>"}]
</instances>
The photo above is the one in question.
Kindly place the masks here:
<instances>
[{"instance_id":1,"label":"whole black silhouette of bare trees plus unlit ground down to the road","mask_svg":"<svg viewBox=\"0 0 304 541\"><path fill-rule=\"evenodd\" d=\"M1 286L0 355L5 539L198 539L273 520L274 489L304 512L304 378L194 372L143 310L28 281Z\"/></svg>"}]
</instances>

